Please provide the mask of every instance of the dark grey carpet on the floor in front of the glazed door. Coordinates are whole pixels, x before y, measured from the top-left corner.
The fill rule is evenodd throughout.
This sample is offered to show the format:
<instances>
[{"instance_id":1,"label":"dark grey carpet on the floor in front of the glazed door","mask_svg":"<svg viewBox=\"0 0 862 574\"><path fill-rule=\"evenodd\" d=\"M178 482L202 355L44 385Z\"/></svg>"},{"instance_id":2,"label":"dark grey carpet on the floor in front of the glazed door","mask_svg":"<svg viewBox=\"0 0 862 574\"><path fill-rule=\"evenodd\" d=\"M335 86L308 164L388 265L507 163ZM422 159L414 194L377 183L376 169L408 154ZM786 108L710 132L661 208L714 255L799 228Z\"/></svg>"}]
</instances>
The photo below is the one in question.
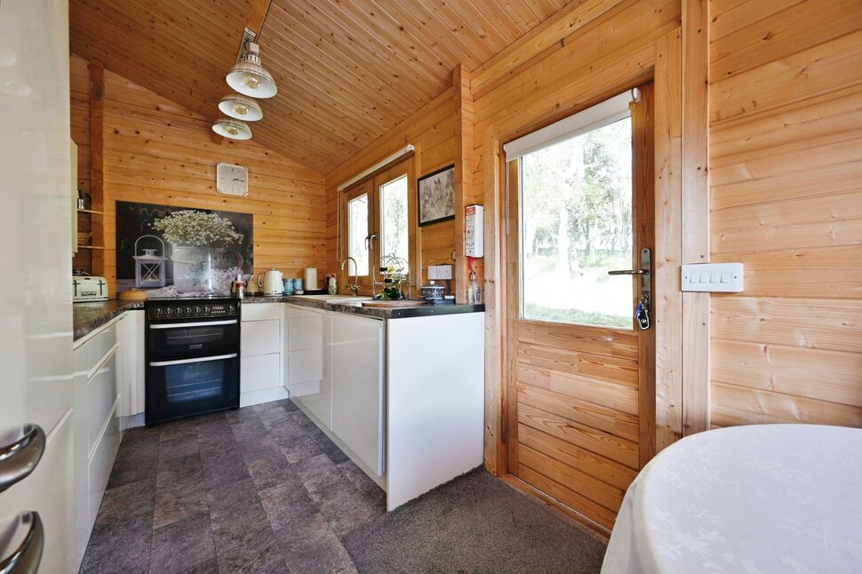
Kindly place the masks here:
<instances>
[{"instance_id":1,"label":"dark grey carpet on the floor in front of the glazed door","mask_svg":"<svg viewBox=\"0 0 862 574\"><path fill-rule=\"evenodd\" d=\"M598 572L605 546L553 509L477 469L343 538L356 569Z\"/></svg>"}]
</instances>

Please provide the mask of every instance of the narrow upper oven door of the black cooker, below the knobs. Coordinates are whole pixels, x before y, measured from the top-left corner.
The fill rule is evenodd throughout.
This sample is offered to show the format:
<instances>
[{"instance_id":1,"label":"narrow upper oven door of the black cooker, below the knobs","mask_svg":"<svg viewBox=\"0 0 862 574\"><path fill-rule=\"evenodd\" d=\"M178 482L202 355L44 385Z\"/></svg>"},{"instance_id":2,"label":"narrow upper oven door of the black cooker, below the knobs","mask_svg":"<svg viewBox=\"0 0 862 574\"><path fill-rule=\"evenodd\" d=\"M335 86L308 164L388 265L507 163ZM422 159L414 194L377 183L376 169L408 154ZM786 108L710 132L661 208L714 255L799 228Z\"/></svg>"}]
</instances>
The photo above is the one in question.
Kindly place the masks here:
<instances>
[{"instance_id":1,"label":"narrow upper oven door of the black cooker, below the knobs","mask_svg":"<svg viewBox=\"0 0 862 574\"><path fill-rule=\"evenodd\" d=\"M237 319L150 323L147 337L151 361L227 355L239 348L239 323Z\"/></svg>"}]
</instances>

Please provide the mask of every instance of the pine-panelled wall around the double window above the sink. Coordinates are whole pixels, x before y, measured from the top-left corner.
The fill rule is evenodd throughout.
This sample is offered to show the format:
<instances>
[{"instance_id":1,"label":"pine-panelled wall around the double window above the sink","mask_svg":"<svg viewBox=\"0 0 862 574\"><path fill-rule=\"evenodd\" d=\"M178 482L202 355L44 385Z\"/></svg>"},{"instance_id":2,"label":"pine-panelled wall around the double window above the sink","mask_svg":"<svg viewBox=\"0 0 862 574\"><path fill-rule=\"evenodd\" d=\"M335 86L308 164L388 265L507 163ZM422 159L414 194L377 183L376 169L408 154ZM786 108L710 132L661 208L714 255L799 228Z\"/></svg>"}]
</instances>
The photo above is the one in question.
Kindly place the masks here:
<instances>
[{"instance_id":1,"label":"pine-panelled wall around the double window above the sink","mask_svg":"<svg viewBox=\"0 0 862 574\"><path fill-rule=\"evenodd\" d=\"M407 144L416 146L417 178L454 163L457 106L455 90L449 88L370 147L365 148L362 153L355 155L347 163L343 163L326 175L326 261L330 271L339 269L337 261L339 241L337 187L339 184ZM455 231L454 219L419 227L417 241L422 258L419 262L422 273L420 276L414 274L414 285L427 283L428 265L453 263L451 254L455 251ZM346 238L342 238L342 242L346 245ZM342 279L340 286L343 288L344 284ZM452 282L452 288L455 288L455 282ZM419 293L414 291L414 297L419 297Z\"/></svg>"}]
</instances>

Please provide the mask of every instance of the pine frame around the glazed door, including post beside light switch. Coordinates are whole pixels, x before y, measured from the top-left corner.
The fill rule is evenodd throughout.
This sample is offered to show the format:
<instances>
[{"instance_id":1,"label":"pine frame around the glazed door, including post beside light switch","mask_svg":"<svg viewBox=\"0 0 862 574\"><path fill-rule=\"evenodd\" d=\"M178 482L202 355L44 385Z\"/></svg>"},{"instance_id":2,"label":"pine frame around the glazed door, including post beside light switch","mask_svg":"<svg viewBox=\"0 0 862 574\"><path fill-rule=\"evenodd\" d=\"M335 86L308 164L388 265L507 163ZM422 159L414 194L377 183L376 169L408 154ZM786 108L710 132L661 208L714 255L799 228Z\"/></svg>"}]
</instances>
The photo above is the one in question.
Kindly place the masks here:
<instances>
[{"instance_id":1,"label":"pine frame around the glazed door, including post beside light switch","mask_svg":"<svg viewBox=\"0 0 862 574\"><path fill-rule=\"evenodd\" d=\"M578 109L588 108L622 92L627 86L650 80L654 86L652 124L655 132L656 249L653 281L658 295L654 300L655 430L650 438L654 440L654 450L658 451L684 434L709 428L708 293L686 293L683 297L680 290L682 263L702 263L709 259L706 75L689 79L689 74L686 74L686 78L682 78L683 44L695 48L689 53L690 59L697 61L703 55L698 47L703 47L705 41L706 36L686 37L683 42L682 29L675 28L638 51L637 65L603 70L601 86L584 82L582 93L569 105L548 107L552 108L551 111L539 117L525 119L523 115L513 114L483 131L484 461L492 474L506 474L508 442L507 303L503 283L504 243L500 232L505 210L503 184L506 173L502 144L570 116ZM686 243L684 251L683 240ZM684 309L683 299L686 302ZM690 393L683 395L683 383L686 390L691 390Z\"/></svg>"}]
</instances>

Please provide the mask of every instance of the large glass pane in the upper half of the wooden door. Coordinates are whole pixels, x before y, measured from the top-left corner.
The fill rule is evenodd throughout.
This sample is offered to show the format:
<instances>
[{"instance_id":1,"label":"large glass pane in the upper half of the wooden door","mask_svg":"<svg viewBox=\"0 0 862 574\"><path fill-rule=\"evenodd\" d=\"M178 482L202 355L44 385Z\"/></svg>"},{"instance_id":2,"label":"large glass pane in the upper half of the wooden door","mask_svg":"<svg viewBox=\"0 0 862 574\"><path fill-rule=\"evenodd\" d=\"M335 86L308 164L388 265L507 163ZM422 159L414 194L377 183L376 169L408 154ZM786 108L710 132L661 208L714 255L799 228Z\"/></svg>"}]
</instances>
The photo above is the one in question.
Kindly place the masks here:
<instances>
[{"instance_id":1,"label":"large glass pane in the upper half of the wooden door","mask_svg":"<svg viewBox=\"0 0 862 574\"><path fill-rule=\"evenodd\" d=\"M521 315L632 329L631 117L520 156Z\"/></svg>"}]
</instances>

